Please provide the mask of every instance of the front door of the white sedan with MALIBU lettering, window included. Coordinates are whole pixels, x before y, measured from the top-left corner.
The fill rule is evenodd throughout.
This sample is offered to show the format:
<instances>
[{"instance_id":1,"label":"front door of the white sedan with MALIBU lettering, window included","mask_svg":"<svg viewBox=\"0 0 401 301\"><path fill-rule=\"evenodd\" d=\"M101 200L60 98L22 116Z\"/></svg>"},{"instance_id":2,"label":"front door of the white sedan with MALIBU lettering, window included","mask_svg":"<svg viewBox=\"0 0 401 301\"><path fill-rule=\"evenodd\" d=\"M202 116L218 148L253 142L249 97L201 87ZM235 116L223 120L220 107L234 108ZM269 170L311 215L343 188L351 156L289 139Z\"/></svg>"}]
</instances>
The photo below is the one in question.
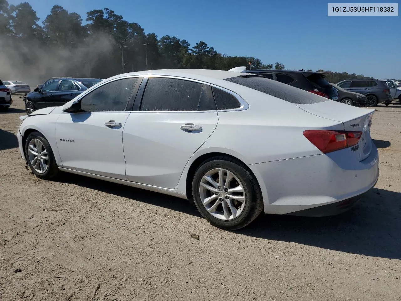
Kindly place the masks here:
<instances>
[{"instance_id":1,"label":"front door of the white sedan with MALIBU lettering, window included","mask_svg":"<svg viewBox=\"0 0 401 301\"><path fill-rule=\"evenodd\" d=\"M80 112L60 114L56 138L64 168L127 180L122 133L139 79L107 82L83 95Z\"/></svg>"}]
</instances>

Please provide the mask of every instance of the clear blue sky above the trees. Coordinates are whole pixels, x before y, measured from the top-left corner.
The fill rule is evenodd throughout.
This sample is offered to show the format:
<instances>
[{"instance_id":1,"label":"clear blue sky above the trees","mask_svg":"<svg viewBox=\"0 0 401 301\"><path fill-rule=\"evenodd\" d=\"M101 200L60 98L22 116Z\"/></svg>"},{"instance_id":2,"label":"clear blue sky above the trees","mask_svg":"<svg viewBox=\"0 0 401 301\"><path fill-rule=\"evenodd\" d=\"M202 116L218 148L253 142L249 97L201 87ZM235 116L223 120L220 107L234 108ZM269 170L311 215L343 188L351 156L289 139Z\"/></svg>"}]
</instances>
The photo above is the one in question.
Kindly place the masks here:
<instances>
[{"instance_id":1,"label":"clear blue sky above the trees","mask_svg":"<svg viewBox=\"0 0 401 301\"><path fill-rule=\"evenodd\" d=\"M286 69L324 69L401 78L401 16L327 16L323 0L24 0L41 18L55 4L77 12L109 8L146 33L205 41L226 55L279 61ZM8 0L10 4L24 1ZM352 2L352 1L350 1ZM388 3L391 1L364 1Z\"/></svg>"}]
</instances>

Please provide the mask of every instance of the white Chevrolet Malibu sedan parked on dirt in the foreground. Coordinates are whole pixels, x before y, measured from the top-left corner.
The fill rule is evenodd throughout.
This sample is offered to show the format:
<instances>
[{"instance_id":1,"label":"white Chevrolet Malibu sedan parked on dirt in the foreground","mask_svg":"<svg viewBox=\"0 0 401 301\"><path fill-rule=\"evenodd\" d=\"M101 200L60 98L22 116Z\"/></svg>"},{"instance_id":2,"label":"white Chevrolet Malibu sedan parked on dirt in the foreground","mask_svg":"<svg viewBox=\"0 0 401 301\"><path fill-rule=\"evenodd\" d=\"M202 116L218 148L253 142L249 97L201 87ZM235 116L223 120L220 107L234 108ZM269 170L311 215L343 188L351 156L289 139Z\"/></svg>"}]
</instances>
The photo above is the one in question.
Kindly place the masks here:
<instances>
[{"instance_id":1,"label":"white Chevrolet Malibu sedan parked on dirt in the foreground","mask_svg":"<svg viewBox=\"0 0 401 301\"><path fill-rule=\"evenodd\" d=\"M350 208L379 177L374 112L250 73L153 70L22 116L17 136L41 179L65 171L190 199L239 229L262 211Z\"/></svg>"}]
</instances>

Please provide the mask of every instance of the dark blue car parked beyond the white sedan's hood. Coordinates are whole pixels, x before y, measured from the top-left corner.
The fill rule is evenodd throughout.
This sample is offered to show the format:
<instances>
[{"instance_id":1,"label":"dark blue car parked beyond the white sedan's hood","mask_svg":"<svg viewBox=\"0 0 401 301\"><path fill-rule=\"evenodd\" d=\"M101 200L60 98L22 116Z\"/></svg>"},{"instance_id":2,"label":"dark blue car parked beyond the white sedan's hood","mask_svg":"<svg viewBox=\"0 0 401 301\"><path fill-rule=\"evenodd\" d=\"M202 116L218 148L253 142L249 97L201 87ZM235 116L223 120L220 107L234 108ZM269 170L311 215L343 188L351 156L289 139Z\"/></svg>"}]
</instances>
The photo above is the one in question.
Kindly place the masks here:
<instances>
[{"instance_id":1,"label":"dark blue car parked beyond the white sedan's hood","mask_svg":"<svg viewBox=\"0 0 401 301\"><path fill-rule=\"evenodd\" d=\"M63 106L75 96L99 83L98 78L59 78L49 81L42 87L34 89L34 92L26 94L24 98L26 114L34 110Z\"/></svg>"}]
</instances>

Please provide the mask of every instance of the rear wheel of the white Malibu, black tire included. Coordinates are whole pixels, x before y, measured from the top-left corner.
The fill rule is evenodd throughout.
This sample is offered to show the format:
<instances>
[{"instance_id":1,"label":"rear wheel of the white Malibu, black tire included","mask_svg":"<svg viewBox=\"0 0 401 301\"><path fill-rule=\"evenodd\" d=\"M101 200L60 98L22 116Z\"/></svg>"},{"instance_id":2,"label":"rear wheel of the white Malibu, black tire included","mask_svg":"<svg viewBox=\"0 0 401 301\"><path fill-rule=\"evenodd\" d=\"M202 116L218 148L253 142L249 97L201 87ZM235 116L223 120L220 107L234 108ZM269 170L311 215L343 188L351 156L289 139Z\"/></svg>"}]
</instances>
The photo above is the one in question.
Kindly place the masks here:
<instances>
[{"instance_id":1,"label":"rear wheel of the white Malibu, black tire included","mask_svg":"<svg viewBox=\"0 0 401 301\"><path fill-rule=\"evenodd\" d=\"M192 196L210 224L238 230L263 210L263 198L255 176L240 161L216 156L204 161L192 180Z\"/></svg>"}]
</instances>

